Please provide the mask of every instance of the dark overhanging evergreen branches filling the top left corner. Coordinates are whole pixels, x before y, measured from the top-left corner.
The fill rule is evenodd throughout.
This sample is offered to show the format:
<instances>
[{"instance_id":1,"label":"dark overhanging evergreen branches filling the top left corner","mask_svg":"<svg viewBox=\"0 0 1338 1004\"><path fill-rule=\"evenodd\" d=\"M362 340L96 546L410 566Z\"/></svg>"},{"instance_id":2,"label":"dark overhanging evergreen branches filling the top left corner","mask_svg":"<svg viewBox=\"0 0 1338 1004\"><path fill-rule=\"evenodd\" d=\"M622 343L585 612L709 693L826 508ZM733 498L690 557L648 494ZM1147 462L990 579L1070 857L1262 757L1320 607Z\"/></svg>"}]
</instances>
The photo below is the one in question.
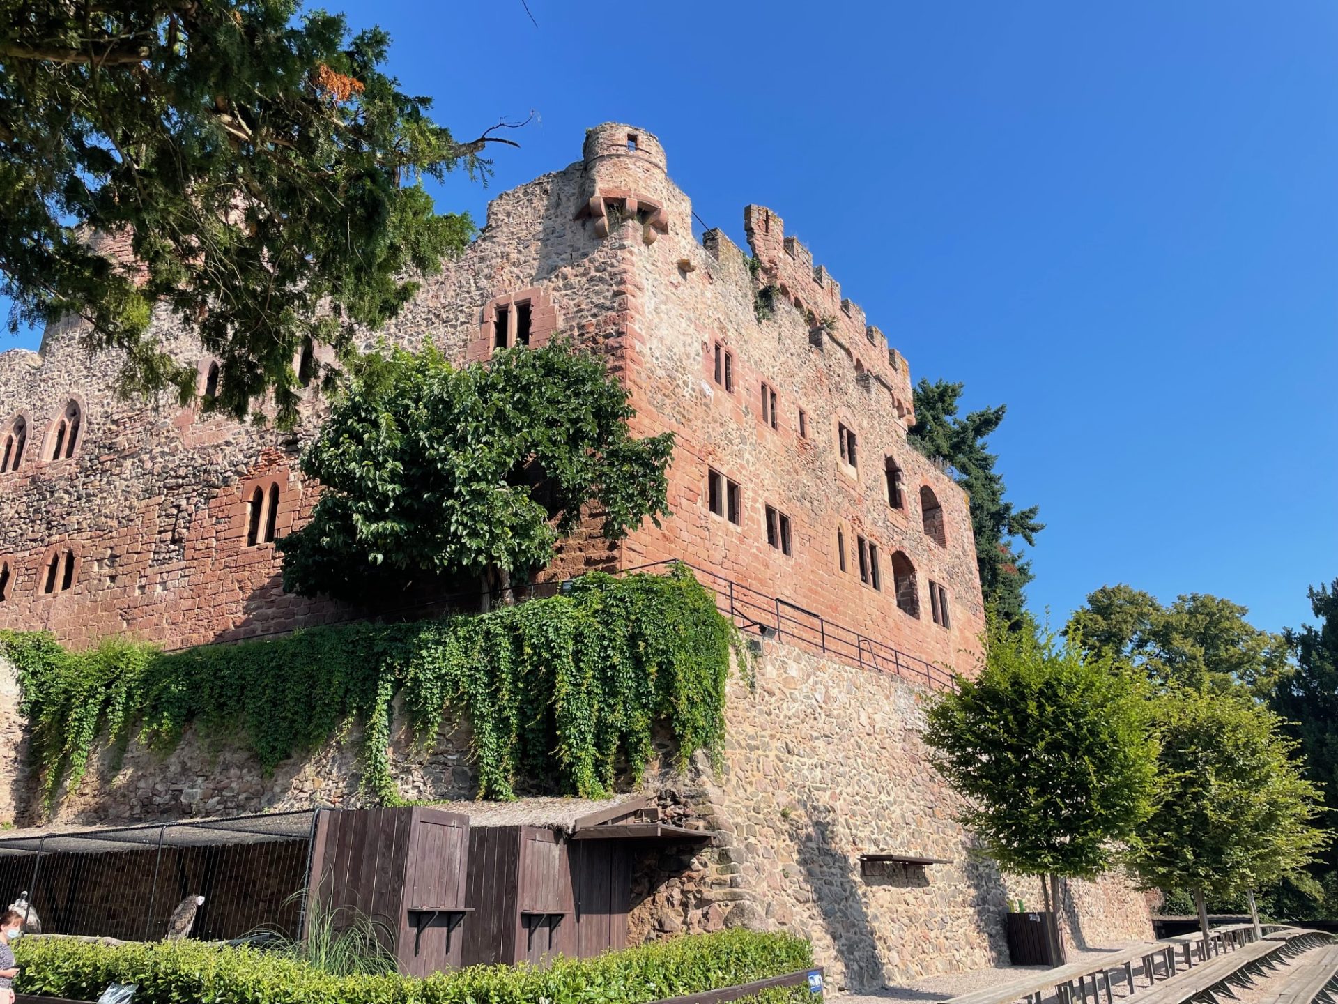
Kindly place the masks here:
<instances>
[{"instance_id":1,"label":"dark overhanging evergreen branches filling the top left corner","mask_svg":"<svg viewBox=\"0 0 1338 1004\"><path fill-rule=\"evenodd\" d=\"M308 340L345 360L474 234L424 178L487 170L381 66L380 29L297 0L0 0L0 293L124 352L122 390L194 392L171 316L219 360L213 404L294 419ZM495 127L494 127L495 129ZM492 130L490 130L491 133ZM95 236L128 240L134 264ZM309 379L304 373L302 379Z\"/></svg>"}]
</instances>

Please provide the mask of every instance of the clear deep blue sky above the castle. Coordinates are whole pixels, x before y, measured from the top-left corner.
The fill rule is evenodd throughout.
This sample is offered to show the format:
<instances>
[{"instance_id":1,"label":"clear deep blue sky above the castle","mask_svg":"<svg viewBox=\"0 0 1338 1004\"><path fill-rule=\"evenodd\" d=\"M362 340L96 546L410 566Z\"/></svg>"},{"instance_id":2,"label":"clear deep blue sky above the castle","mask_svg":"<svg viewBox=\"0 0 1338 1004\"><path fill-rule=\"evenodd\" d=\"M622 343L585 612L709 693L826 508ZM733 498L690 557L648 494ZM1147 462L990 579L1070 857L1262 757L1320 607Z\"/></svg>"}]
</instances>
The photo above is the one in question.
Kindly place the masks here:
<instances>
[{"instance_id":1,"label":"clear deep blue sky above the castle","mask_svg":"<svg viewBox=\"0 0 1338 1004\"><path fill-rule=\"evenodd\" d=\"M1034 608L1123 581L1278 629L1338 577L1333 0L529 1L329 7L459 137L537 111L492 191L648 129L709 225L768 205L913 376L1006 402Z\"/></svg>"}]
</instances>

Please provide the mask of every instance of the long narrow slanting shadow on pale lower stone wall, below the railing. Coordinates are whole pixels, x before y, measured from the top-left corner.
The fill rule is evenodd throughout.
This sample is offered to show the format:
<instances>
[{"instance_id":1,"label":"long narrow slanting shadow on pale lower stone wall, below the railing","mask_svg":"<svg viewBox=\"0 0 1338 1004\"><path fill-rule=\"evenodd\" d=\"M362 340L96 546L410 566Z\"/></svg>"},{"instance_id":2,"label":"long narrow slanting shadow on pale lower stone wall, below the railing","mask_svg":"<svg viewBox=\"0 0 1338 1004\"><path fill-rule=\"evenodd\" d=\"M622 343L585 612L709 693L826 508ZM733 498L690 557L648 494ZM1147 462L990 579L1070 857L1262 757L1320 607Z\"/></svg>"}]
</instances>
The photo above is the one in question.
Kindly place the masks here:
<instances>
[{"instance_id":1,"label":"long narrow slanting shadow on pale lower stone wall, below the railing","mask_svg":"<svg viewBox=\"0 0 1338 1004\"><path fill-rule=\"evenodd\" d=\"M799 865L808 878L814 905L846 968L846 987L871 989L883 985L883 964L874 926L864 910L858 862L834 846L831 809L804 799L807 831L795 835ZM799 830L800 827L796 827Z\"/></svg>"}]
</instances>

